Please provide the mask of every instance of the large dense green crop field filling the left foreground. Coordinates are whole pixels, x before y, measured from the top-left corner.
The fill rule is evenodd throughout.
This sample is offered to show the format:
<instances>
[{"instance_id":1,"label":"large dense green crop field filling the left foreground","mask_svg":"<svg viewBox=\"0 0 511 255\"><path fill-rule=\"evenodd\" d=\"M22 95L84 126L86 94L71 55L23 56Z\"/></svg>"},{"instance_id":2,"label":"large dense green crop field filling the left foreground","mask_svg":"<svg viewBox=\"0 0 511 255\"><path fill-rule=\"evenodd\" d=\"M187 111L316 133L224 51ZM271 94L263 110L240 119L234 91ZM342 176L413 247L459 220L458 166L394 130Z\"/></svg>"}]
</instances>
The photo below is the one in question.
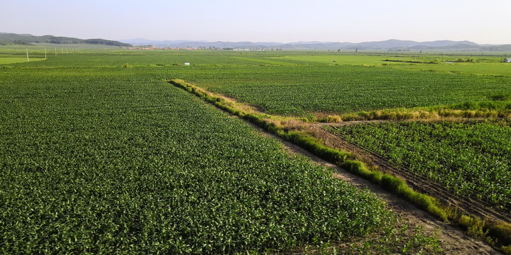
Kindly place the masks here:
<instances>
[{"instance_id":1,"label":"large dense green crop field filling the left foreground","mask_svg":"<svg viewBox=\"0 0 511 255\"><path fill-rule=\"evenodd\" d=\"M158 67L20 67L0 72L2 254L281 251L392 229L368 191Z\"/></svg>"}]
</instances>

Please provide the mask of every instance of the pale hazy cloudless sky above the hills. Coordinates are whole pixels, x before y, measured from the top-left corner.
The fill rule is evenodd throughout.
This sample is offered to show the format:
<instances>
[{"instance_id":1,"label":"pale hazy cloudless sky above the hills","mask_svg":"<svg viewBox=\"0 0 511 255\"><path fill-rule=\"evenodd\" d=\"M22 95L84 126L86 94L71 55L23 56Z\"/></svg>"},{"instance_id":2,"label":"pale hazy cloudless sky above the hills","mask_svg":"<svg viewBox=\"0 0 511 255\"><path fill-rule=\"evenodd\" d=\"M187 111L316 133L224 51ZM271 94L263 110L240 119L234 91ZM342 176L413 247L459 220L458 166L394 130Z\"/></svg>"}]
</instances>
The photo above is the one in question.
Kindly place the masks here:
<instances>
[{"instance_id":1,"label":"pale hazy cloudless sky above the hills","mask_svg":"<svg viewBox=\"0 0 511 255\"><path fill-rule=\"evenodd\" d=\"M511 44L511 0L16 0L0 32L230 42L470 40Z\"/></svg>"}]
</instances>

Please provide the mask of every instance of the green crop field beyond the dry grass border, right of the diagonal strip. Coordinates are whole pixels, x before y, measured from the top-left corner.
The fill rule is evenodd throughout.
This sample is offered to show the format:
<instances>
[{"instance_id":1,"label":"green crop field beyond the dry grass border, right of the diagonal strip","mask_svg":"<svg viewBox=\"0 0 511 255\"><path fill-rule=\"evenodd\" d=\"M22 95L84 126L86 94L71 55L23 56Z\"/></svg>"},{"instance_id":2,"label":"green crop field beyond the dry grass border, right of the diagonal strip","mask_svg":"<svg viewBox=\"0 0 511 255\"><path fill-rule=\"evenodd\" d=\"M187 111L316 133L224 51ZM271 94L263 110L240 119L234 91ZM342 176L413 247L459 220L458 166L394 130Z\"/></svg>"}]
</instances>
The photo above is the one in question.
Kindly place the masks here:
<instances>
[{"instance_id":1,"label":"green crop field beyond the dry grass border, right of the diagonal strip","mask_svg":"<svg viewBox=\"0 0 511 255\"><path fill-rule=\"evenodd\" d=\"M509 93L507 77L394 67L300 65L218 67L178 72L180 79L259 106L270 114L346 113L484 101Z\"/></svg>"}]
</instances>

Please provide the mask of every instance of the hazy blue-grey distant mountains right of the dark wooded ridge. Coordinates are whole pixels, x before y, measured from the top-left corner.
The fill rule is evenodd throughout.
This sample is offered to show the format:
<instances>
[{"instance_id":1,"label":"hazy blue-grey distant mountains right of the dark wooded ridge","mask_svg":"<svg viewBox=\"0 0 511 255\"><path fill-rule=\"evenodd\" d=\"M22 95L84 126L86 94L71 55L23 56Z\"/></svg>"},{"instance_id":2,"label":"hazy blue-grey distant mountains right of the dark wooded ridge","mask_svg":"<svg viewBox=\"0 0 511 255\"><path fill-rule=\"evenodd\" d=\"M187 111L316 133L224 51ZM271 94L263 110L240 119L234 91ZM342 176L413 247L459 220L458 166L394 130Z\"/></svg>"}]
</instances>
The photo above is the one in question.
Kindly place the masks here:
<instances>
[{"instance_id":1,"label":"hazy blue-grey distant mountains right of the dark wooded ridge","mask_svg":"<svg viewBox=\"0 0 511 255\"><path fill-rule=\"evenodd\" d=\"M120 40L131 45L154 45L155 47L215 47L231 49L270 49L282 50L482 50L509 51L511 45L478 45L470 41L437 40L415 42L411 40L385 40L378 42L207 42L195 40Z\"/></svg>"}]
</instances>

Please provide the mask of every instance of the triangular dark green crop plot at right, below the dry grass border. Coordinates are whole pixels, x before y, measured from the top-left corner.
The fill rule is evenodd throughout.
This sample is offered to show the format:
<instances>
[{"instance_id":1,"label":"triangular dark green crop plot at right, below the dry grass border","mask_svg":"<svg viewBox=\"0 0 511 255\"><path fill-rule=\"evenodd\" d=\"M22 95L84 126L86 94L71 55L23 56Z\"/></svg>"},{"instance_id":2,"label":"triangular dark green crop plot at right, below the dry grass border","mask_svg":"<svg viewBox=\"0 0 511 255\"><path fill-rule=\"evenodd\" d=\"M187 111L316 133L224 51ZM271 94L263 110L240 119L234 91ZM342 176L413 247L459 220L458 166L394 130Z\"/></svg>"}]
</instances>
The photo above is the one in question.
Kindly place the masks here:
<instances>
[{"instance_id":1,"label":"triangular dark green crop plot at right, below the dry grass border","mask_svg":"<svg viewBox=\"0 0 511 255\"><path fill-rule=\"evenodd\" d=\"M395 166L511 210L509 123L360 123L326 127Z\"/></svg>"}]
</instances>

